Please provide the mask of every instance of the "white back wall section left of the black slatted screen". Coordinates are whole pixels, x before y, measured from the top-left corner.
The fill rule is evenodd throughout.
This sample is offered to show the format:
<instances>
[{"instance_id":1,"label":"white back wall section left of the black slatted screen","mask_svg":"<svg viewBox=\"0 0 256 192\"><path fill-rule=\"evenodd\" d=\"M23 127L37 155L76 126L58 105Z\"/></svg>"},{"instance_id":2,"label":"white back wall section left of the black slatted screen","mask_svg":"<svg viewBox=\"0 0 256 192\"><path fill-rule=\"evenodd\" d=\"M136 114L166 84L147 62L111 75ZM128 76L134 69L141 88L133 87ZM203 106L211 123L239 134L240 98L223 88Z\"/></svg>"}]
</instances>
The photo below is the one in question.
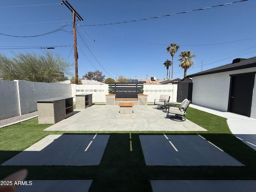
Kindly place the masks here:
<instances>
[{"instance_id":1,"label":"white back wall section left of the black slatted screen","mask_svg":"<svg viewBox=\"0 0 256 192\"><path fill-rule=\"evenodd\" d=\"M102 85L76 85L72 84L72 96L76 94L92 94L93 103L106 103L108 84ZM75 98L74 98L75 101Z\"/></svg>"}]
</instances>

